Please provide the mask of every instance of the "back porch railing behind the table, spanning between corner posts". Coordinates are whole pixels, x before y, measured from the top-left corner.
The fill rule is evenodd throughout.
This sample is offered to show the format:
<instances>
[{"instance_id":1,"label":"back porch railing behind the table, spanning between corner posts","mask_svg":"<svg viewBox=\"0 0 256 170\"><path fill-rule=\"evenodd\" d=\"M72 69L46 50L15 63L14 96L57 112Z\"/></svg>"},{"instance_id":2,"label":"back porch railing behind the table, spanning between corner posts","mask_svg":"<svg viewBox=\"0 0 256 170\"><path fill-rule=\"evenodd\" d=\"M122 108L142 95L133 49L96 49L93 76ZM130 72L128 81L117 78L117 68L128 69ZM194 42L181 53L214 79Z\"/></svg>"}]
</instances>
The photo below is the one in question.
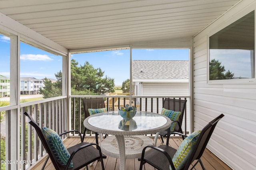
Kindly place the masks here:
<instances>
[{"instance_id":1,"label":"back porch railing behind the table, spanning between corner posts","mask_svg":"<svg viewBox=\"0 0 256 170\"><path fill-rule=\"evenodd\" d=\"M189 133L190 129L190 97L189 96L70 96L71 97L71 127L83 133L84 126L84 106L83 98L104 98L105 106L108 111L118 110L126 104L135 106L140 111L150 111L161 113L164 98L175 98L180 100L188 100L184 111L182 131ZM72 134L76 136L76 134ZM92 136L91 131L87 131L86 135ZM152 135L152 134L151 134Z\"/></svg>"}]
</instances>

